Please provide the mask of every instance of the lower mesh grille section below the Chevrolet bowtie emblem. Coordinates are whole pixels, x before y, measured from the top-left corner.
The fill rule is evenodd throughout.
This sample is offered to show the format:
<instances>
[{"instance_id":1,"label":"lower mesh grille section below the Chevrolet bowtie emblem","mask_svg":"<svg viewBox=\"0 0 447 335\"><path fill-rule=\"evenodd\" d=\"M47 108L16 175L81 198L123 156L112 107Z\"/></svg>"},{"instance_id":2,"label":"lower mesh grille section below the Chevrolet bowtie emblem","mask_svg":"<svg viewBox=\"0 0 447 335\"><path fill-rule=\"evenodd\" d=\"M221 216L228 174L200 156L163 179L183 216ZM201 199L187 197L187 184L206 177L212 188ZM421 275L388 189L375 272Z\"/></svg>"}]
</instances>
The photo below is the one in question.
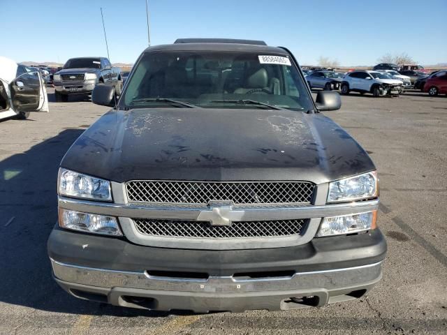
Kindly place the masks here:
<instances>
[{"instance_id":1,"label":"lower mesh grille section below the Chevrolet bowtie emblem","mask_svg":"<svg viewBox=\"0 0 447 335\"><path fill-rule=\"evenodd\" d=\"M300 234L307 220L235 221L231 225L210 225L207 221L133 219L140 234L161 237L242 239Z\"/></svg>"}]
</instances>

